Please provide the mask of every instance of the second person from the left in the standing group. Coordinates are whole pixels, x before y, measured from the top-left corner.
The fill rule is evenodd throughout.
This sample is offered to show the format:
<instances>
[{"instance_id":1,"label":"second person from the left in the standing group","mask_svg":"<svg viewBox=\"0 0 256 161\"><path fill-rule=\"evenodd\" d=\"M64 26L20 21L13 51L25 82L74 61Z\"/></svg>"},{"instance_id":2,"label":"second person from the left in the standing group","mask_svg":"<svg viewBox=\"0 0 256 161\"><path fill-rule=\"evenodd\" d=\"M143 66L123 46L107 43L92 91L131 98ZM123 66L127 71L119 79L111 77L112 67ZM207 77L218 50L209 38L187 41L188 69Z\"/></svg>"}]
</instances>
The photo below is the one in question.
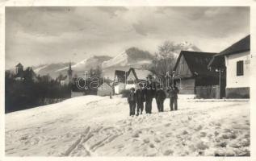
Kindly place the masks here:
<instances>
[{"instance_id":1,"label":"second person from the left in the standing group","mask_svg":"<svg viewBox=\"0 0 256 161\"><path fill-rule=\"evenodd\" d=\"M142 114L144 109L144 102L145 102L145 92L141 84L139 84L139 89L136 89L136 115Z\"/></svg>"}]
</instances>

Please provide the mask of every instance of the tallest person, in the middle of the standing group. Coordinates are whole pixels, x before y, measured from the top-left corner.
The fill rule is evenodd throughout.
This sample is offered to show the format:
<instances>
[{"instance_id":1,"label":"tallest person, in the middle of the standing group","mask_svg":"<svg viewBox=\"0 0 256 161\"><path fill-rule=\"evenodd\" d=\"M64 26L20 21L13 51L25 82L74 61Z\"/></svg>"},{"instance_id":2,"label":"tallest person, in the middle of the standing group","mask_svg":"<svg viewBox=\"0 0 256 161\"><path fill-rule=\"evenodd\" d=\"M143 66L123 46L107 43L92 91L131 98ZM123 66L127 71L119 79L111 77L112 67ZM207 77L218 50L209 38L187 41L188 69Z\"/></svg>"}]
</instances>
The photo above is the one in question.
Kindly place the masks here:
<instances>
[{"instance_id":1,"label":"tallest person, in the middle of the standing group","mask_svg":"<svg viewBox=\"0 0 256 161\"><path fill-rule=\"evenodd\" d=\"M152 101L155 95L156 85L153 82L153 77L149 75L147 77L146 85L145 85L145 111L146 114L151 114L152 110Z\"/></svg>"}]
</instances>

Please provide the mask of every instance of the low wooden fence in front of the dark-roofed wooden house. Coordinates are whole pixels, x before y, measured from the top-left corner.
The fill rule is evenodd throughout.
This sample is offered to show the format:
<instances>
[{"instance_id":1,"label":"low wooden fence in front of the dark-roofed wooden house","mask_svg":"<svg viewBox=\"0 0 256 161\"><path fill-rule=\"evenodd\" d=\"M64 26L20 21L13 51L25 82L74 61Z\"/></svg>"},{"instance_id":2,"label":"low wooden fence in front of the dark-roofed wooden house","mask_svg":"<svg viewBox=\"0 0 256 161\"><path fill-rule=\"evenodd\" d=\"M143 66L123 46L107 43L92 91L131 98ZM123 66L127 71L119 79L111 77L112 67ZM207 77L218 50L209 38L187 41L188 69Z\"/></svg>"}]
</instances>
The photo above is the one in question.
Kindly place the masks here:
<instances>
[{"instance_id":1,"label":"low wooden fence in front of the dark-roofed wooden house","mask_svg":"<svg viewBox=\"0 0 256 161\"><path fill-rule=\"evenodd\" d=\"M195 96L196 98L220 98L220 86L211 85L211 86L198 86L195 87Z\"/></svg>"}]
</instances>

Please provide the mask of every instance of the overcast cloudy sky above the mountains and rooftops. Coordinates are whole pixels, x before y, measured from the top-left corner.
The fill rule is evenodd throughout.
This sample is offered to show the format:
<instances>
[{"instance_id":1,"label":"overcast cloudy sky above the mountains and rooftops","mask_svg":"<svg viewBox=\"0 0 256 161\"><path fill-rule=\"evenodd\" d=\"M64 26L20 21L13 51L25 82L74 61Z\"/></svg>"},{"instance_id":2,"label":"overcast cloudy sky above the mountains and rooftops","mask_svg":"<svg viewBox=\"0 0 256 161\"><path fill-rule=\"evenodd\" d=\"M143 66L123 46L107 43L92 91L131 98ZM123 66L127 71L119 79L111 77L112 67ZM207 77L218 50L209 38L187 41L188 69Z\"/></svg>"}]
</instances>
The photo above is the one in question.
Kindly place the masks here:
<instances>
[{"instance_id":1,"label":"overcast cloudy sky above the mountains and rooftops","mask_svg":"<svg viewBox=\"0 0 256 161\"><path fill-rule=\"evenodd\" d=\"M6 7L6 68L156 52L165 40L220 52L250 34L249 7Z\"/></svg>"}]
</instances>

